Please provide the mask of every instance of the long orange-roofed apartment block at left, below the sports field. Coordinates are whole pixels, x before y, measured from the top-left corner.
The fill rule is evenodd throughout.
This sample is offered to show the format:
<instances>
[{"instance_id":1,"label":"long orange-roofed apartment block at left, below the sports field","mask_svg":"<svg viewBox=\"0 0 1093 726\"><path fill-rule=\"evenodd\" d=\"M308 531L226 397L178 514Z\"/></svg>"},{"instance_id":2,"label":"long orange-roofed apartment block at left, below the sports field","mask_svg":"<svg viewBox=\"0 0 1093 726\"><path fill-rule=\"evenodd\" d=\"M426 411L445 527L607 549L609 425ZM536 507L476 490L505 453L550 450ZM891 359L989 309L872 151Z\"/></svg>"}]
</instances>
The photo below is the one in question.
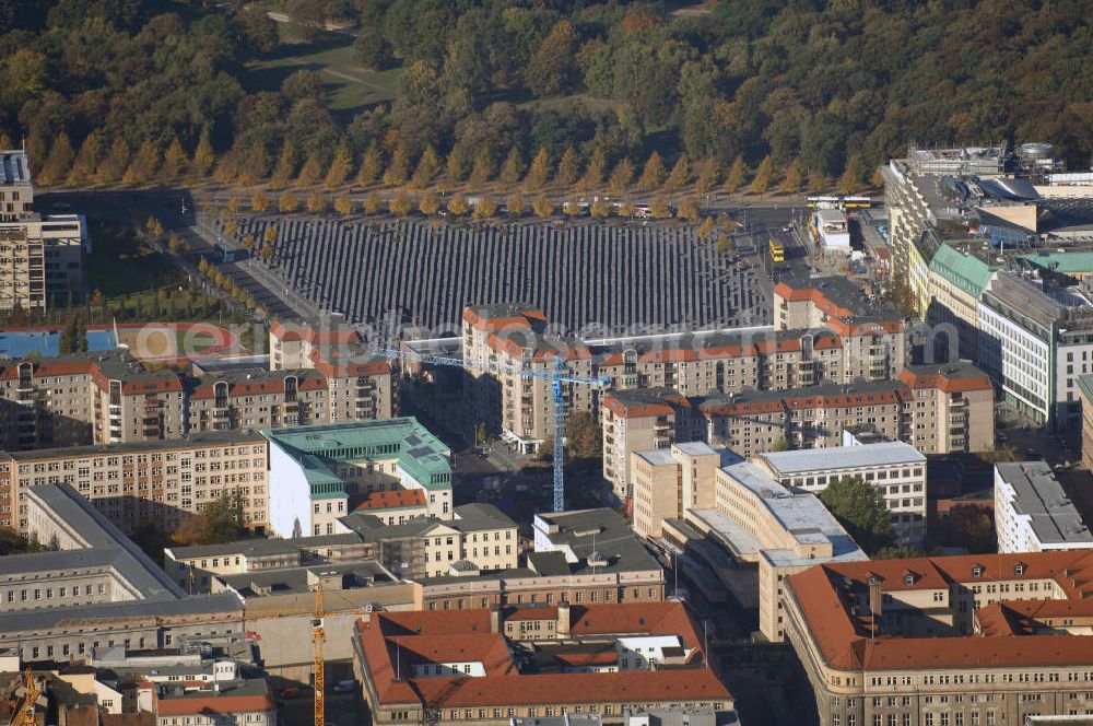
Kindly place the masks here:
<instances>
[{"instance_id":1,"label":"long orange-roofed apartment block at left, below the sports field","mask_svg":"<svg viewBox=\"0 0 1093 726\"><path fill-rule=\"evenodd\" d=\"M330 375L334 374L337 375ZM390 418L383 361L186 378L124 349L0 362L0 446L43 448Z\"/></svg>"}]
</instances>

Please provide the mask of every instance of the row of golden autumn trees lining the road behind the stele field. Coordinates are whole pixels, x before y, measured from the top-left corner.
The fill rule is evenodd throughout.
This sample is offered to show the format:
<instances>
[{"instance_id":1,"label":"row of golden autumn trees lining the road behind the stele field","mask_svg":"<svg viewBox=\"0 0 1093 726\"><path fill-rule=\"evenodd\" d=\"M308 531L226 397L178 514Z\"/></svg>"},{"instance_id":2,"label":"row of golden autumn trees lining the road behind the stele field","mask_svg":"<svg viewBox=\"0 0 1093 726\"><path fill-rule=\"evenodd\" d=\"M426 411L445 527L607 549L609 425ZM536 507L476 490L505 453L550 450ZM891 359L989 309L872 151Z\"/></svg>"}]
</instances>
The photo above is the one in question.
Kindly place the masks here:
<instances>
[{"instance_id":1,"label":"row of golden autumn trees lining the road behind the stele field","mask_svg":"<svg viewBox=\"0 0 1093 726\"><path fill-rule=\"evenodd\" d=\"M10 139L0 137L0 147L5 141L10 143ZM815 169L806 173L796 160L785 167L778 166L771 156L764 157L754 169L749 168L743 156L737 156L724 168L715 157L694 163L685 153L668 166L660 152L654 151L640 167L628 157L609 166L602 150L593 151L586 160L574 147L568 147L557 160L542 148L529 164L520 150L512 147L496 166L486 152L470 160L461 155L457 147L447 157L442 157L432 145L426 145L421 155L414 157L403 144L388 150L375 141L360 159L354 159L349 144L342 142L330 163L325 165L318 154L301 159L291 139L285 140L280 157L270 167L254 157L218 156L208 134L201 136L192 153L177 139L163 151L145 141L134 152L121 138L105 144L97 132L92 132L79 150L73 149L68 134L61 132L45 160L37 164L36 175L44 186L177 184L212 179L225 185L263 185L271 189L407 186L412 190L444 190L459 186L474 189L496 186L525 192L551 188L581 192L607 190L613 195L633 190L646 194L693 190L698 195L721 190L731 195L744 189L754 194L771 190L795 194L802 189L821 191L833 183L841 192L851 194L869 176L869 168L860 156L854 157L835 182ZM875 175L870 182L878 183Z\"/></svg>"}]
</instances>

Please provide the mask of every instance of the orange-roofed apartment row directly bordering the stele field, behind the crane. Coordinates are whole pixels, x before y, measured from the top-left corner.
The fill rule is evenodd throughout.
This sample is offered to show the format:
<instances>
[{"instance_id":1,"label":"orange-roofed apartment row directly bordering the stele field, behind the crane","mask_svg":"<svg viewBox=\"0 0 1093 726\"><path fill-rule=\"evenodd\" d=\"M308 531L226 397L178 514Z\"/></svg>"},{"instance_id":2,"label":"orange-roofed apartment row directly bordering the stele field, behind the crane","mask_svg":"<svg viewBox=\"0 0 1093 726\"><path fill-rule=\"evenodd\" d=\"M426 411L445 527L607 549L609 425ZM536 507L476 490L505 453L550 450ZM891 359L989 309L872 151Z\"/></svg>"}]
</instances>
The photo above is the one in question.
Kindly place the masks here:
<instances>
[{"instance_id":1,"label":"orange-roofed apartment row directly bordering the stele field, behind the crane","mask_svg":"<svg viewBox=\"0 0 1093 726\"><path fill-rule=\"evenodd\" d=\"M556 356L567 373L602 378L615 390L668 387L684 396L884 380L906 361L898 313L844 279L785 280L775 301L773 328L588 341L549 336L545 315L530 305L467 307L461 344L472 366L465 387L469 415L524 450L538 447L551 431L550 383L519 372L545 372ZM597 386L567 383L564 395L569 410L599 410ZM624 481L612 479L620 499Z\"/></svg>"}]
</instances>

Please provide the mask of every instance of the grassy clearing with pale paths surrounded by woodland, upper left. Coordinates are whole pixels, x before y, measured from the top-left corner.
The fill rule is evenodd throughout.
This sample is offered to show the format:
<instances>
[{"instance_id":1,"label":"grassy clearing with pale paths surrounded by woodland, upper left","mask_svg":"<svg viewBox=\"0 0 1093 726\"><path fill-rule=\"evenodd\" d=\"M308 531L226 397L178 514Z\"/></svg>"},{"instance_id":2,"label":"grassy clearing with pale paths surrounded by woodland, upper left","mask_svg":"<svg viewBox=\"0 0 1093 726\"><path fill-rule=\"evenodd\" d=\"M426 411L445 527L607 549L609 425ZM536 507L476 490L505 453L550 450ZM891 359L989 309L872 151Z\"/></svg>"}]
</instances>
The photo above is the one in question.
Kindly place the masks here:
<instances>
[{"instance_id":1,"label":"grassy clearing with pale paths surrounded by woodland, upper left","mask_svg":"<svg viewBox=\"0 0 1093 726\"><path fill-rule=\"evenodd\" d=\"M284 44L271 58L247 65L248 91L274 91L306 68L319 74L332 112L355 112L395 99L401 68L374 71L353 60L352 36L324 33L315 43Z\"/></svg>"}]
</instances>

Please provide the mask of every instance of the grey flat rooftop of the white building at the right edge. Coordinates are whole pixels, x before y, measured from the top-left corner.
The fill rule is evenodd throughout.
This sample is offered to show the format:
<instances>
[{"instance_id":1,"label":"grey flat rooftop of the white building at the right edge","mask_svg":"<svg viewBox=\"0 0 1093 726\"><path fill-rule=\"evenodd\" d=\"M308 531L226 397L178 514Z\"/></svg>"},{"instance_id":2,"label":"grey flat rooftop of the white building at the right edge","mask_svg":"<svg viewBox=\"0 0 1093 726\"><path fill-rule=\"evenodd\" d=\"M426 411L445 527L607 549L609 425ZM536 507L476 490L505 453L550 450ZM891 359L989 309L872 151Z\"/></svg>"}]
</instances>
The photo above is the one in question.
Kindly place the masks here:
<instances>
[{"instance_id":1,"label":"grey flat rooftop of the white building at the right edge","mask_svg":"<svg viewBox=\"0 0 1093 726\"><path fill-rule=\"evenodd\" d=\"M1046 462L1003 462L995 465L995 470L1013 489L1014 512L1030 518L1041 542L1093 547L1093 532Z\"/></svg>"}]
</instances>

